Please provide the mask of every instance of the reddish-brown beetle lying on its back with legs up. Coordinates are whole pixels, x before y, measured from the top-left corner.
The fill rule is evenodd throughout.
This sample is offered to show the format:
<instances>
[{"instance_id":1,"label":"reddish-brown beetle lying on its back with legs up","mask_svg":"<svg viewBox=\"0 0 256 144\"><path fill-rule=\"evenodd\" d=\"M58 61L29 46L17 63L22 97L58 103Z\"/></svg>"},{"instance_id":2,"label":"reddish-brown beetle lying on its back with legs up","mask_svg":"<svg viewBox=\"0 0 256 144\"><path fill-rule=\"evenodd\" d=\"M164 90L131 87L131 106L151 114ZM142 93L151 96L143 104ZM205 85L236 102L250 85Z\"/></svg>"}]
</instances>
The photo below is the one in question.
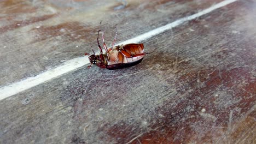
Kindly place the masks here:
<instances>
[{"instance_id":1,"label":"reddish-brown beetle lying on its back with legs up","mask_svg":"<svg viewBox=\"0 0 256 144\"><path fill-rule=\"evenodd\" d=\"M98 37L100 35L101 30L98 30ZM117 27L115 26L115 37L112 43L112 47L110 49L107 48L107 45L104 42L104 32L102 32L102 42L104 50L106 51L103 53L100 42L98 41L97 37L97 44L98 49L100 49L100 54L90 55L89 53L85 53L85 56L89 56L89 61L92 64L97 65L100 68L106 69L121 69L131 67L140 63L147 53L144 52L144 45L143 44L126 44L126 45L115 45L115 41L117 39ZM150 52L151 53L151 52ZM91 65L88 68L91 68Z\"/></svg>"}]
</instances>

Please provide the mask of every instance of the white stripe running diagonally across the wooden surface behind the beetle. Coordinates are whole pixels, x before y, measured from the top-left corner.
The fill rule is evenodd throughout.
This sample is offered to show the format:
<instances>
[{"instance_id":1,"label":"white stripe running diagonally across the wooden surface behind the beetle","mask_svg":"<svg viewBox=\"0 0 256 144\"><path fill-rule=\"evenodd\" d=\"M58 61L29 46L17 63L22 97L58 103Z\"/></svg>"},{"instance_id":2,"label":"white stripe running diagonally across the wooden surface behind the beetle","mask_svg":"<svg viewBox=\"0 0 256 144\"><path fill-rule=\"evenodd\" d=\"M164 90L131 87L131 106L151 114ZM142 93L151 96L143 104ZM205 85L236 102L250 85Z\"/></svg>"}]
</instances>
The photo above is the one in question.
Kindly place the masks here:
<instances>
[{"instance_id":1,"label":"white stripe running diagonally across the wooden surface behind the beetle","mask_svg":"<svg viewBox=\"0 0 256 144\"><path fill-rule=\"evenodd\" d=\"M146 39L149 39L151 37L154 37L155 35L158 35L162 32L165 32L168 29L172 29L173 27L181 25L184 22L196 19L197 17L200 17L202 15L210 13L213 10L224 7L225 5L228 5L228 4L236 2L236 1L238 1L238 0L226 0L226 1L220 2L216 5L213 5L210 8L207 8L205 10L200 11L199 13L196 13L194 15L190 15L190 16L187 16L187 17L183 17L182 19L176 20L172 23L169 23L168 25L153 29L152 31L149 31L147 33L138 35L135 38L123 41L122 43L120 43L118 45L129 44L129 43L139 43L142 40L146 40ZM14 95L14 94L17 94L19 92L25 91L26 89L37 86L37 85L39 85L41 83L44 83L46 81L49 81L51 79L55 79L56 77L59 77L63 74L66 74L66 73L68 73L72 70L83 67L85 64L88 64L88 63L89 63L89 61L88 61L87 57L74 58L74 59L71 59L71 60L63 63L59 67L56 67L54 69L45 71L44 73L39 74L37 76L29 77L25 80L21 80L19 82L12 83L9 86L1 87L0 88L0 100L2 100L4 98L8 98L11 95Z\"/></svg>"}]
</instances>

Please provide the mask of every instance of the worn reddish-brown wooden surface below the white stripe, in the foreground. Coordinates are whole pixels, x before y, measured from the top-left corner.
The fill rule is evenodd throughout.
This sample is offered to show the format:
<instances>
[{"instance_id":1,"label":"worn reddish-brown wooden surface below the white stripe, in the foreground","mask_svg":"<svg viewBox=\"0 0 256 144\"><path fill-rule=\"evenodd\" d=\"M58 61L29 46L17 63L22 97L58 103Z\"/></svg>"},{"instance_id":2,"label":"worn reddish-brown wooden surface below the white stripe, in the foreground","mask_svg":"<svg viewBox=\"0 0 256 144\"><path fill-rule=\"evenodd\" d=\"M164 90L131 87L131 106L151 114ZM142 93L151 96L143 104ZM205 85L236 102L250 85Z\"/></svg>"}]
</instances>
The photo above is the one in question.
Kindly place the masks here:
<instances>
[{"instance_id":1,"label":"worn reddish-brown wooden surface below the white stripe, in the foreground","mask_svg":"<svg viewBox=\"0 0 256 144\"><path fill-rule=\"evenodd\" d=\"M0 143L255 143L255 1L143 41L135 67L82 68L0 101Z\"/></svg>"}]
</instances>

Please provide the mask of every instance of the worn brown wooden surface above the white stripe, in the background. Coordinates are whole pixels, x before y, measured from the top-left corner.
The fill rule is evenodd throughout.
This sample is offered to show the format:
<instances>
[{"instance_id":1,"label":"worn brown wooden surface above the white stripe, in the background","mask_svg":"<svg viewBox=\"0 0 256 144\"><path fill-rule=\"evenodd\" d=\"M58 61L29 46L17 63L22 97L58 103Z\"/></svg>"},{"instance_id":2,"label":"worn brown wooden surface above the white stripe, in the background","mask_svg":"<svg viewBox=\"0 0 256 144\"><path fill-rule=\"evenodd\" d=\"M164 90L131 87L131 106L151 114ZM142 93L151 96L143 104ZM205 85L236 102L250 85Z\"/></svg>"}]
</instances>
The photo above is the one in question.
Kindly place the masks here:
<instances>
[{"instance_id":1,"label":"worn brown wooden surface above the white stripe, in the background","mask_svg":"<svg viewBox=\"0 0 256 144\"><path fill-rule=\"evenodd\" d=\"M1 1L0 85L35 76L97 49L96 32L106 43L135 37L216 1ZM99 26L100 21L102 25Z\"/></svg>"}]
</instances>

